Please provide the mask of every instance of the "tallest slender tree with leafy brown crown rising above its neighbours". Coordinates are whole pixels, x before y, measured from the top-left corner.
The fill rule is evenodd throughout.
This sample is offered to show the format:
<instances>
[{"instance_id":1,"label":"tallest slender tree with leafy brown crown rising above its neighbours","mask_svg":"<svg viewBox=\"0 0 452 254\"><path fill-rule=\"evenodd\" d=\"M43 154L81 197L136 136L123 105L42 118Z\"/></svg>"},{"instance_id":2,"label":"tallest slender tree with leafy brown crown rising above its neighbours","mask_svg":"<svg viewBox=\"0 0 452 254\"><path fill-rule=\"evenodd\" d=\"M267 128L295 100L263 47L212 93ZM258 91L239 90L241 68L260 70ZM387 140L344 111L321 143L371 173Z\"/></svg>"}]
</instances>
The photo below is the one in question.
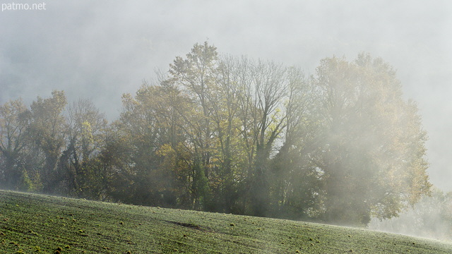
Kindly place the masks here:
<instances>
[{"instance_id":1,"label":"tallest slender tree with leafy brown crown rising above its neighbours","mask_svg":"<svg viewBox=\"0 0 452 254\"><path fill-rule=\"evenodd\" d=\"M193 171L192 191L194 207L208 207L209 186L213 157L213 126L211 90L215 85L218 68L216 47L195 44L186 59L178 56L169 68L169 79L166 83L177 85L189 97L193 106L193 114L182 115L188 127L186 135L192 145L191 171Z\"/></svg>"}]
</instances>

